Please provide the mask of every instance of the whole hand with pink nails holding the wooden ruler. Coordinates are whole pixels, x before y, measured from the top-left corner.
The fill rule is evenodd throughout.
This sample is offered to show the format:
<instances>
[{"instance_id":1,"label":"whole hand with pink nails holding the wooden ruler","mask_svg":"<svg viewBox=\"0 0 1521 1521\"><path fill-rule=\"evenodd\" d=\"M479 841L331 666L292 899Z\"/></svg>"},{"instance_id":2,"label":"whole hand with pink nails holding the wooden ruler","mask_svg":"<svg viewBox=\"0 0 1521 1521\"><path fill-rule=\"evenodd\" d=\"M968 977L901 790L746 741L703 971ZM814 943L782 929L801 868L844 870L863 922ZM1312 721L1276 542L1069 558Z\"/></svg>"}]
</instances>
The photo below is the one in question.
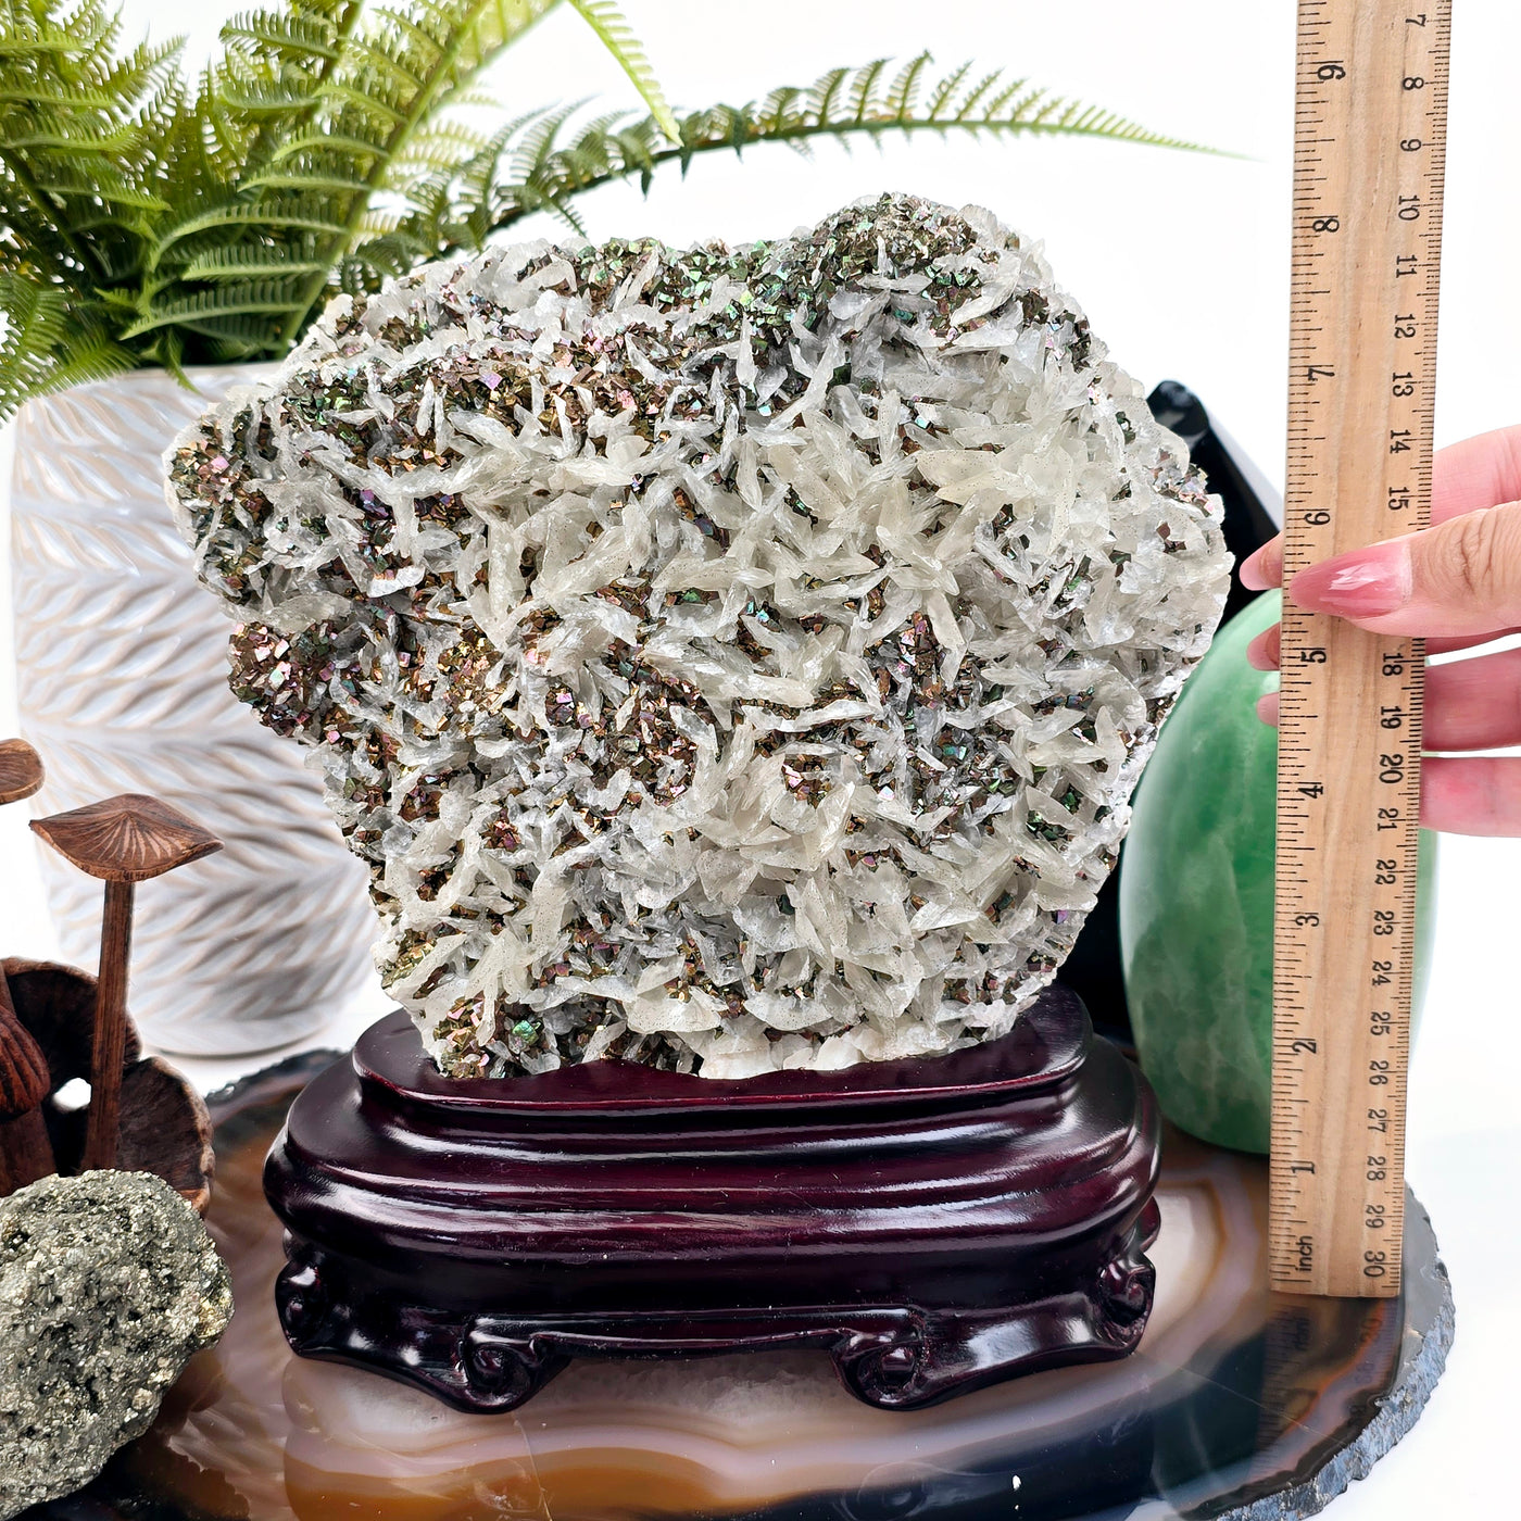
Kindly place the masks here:
<instances>
[{"instance_id":1,"label":"whole hand with pink nails holding the wooden ruler","mask_svg":"<svg viewBox=\"0 0 1521 1521\"><path fill-rule=\"evenodd\" d=\"M1521 631L1521 426L1480 433L1436 455L1431 526L1300 570L1285 596L1375 633L1419 634L1427 654ZM1241 564L1252 590L1281 586L1282 535ZM1247 659L1276 671L1279 628ZM1278 697L1259 716L1278 722ZM1521 744L1521 649L1427 671L1422 747ZM1460 835L1521 835L1521 757L1431 756L1421 767L1421 823Z\"/></svg>"}]
</instances>

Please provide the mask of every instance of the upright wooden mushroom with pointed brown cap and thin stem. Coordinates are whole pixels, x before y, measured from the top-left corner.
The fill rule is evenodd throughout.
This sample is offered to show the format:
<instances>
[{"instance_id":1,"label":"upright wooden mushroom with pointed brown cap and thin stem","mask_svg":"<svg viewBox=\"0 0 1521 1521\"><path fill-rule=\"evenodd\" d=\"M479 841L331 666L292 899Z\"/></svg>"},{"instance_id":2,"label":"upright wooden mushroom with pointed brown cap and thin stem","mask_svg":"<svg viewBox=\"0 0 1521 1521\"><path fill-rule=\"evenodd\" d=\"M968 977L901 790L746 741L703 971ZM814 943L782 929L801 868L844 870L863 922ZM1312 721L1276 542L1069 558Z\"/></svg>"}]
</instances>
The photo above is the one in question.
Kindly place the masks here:
<instances>
[{"instance_id":1,"label":"upright wooden mushroom with pointed brown cap and thin stem","mask_svg":"<svg viewBox=\"0 0 1521 1521\"><path fill-rule=\"evenodd\" d=\"M126 964L132 949L132 896L138 882L222 849L222 841L176 808L140 792L123 792L32 827L81 872L105 882L100 922L100 978L90 1060L90 1124L85 1168L114 1167L126 1043Z\"/></svg>"}]
</instances>

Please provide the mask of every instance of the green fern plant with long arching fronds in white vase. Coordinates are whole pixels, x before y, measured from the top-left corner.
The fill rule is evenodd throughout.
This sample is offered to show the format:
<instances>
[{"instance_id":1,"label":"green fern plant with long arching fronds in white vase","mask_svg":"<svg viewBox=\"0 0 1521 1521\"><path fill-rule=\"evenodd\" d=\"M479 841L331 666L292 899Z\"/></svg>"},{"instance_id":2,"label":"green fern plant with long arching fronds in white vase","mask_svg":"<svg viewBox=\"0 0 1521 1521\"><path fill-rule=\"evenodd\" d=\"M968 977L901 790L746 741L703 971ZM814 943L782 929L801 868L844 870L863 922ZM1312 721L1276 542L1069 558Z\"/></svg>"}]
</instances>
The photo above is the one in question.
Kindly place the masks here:
<instances>
[{"instance_id":1,"label":"green fern plant with long arching fronds in white vase","mask_svg":"<svg viewBox=\"0 0 1521 1521\"><path fill-rule=\"evenodd\" d=\"M199 79L179 44L119 50L106 0L0 0L0 420L141 365L284 354L341 291L373 289L534 211L756 143L913 131L1185 146L929 56L835 68L675 116L610 0L569 0L643 113L506 113L479 78L561 0L286 0L234 17Z\"/></svg>"}]
</instances>

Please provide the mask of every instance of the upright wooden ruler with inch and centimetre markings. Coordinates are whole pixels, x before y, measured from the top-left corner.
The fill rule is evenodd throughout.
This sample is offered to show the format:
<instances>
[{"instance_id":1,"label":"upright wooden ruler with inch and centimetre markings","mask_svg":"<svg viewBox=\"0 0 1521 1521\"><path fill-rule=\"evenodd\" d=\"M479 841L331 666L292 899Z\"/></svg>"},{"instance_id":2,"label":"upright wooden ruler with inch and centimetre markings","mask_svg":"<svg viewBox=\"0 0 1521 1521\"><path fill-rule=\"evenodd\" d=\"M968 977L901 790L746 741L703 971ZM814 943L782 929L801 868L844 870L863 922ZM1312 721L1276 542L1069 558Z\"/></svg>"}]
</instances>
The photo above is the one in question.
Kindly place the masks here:
<instances>
[{"instance_id":1,"label":"upright wooden ruler with inch and centimetre markings","mask_svg":"<svg viewBox=\"0 0 1521 1521\"><path fill-rule=\"evenodd\" d=\"M1300 0L1284 580L1424 528L1451 0ZM1284 605L1276 1290L1399 1293L1425 654Z\"/></svg>"}]
</instances>

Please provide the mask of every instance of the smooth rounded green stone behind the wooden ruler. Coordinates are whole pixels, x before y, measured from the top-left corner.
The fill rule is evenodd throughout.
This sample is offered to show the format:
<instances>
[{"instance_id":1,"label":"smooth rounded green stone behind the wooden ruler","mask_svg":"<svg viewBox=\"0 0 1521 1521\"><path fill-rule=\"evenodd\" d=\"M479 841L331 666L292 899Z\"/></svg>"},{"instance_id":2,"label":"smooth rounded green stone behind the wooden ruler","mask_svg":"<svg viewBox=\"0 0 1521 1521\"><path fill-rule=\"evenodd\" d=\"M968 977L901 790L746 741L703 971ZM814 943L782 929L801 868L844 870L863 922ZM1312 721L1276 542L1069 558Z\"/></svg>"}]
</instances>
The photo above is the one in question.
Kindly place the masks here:
<instances>
[{"instance_id":1,"label":"smooth rounded green stone behind the wooden ruler","mask_svg":"<svg viewBox=\"0 0 1521 1521\"><path fill-rule=\"evenodd\" d=\"M1270 592L1238 613L1162 726L1119 878L1126 999L1141 1066L1179 1129L1267 1151L1273 1027L1278 686L1246 646L1278 622ZM1421 835L1416 1010L1431 937L1436 840ZM1352 1015L1352 1010L1348 1011Z\"/></svg>"}]
</instances>

